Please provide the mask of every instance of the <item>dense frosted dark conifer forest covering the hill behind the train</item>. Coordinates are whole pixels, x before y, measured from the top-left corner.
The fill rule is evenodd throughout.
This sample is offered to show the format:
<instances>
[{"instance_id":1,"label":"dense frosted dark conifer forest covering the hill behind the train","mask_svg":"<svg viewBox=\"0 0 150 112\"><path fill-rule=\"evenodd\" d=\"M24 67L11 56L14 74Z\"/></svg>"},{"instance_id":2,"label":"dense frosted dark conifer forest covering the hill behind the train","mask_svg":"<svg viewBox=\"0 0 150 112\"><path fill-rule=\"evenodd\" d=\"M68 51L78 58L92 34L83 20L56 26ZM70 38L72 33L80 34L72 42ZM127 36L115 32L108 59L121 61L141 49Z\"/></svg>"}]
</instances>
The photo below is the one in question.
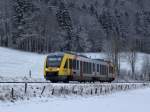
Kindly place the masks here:
<instances>
[{"instance_id":1,"label":"dense frosted dark conifer forest covering the hill behind the train","mask_svg":"<svg viewBox=\"0 0 150 112\"><path fill-rule=\"evenodd\" d=\"M30 52L150 53L149 0L1 0L0 46ZM113 44L115 43L115 44Z\"/></svg>"}]
</instances>

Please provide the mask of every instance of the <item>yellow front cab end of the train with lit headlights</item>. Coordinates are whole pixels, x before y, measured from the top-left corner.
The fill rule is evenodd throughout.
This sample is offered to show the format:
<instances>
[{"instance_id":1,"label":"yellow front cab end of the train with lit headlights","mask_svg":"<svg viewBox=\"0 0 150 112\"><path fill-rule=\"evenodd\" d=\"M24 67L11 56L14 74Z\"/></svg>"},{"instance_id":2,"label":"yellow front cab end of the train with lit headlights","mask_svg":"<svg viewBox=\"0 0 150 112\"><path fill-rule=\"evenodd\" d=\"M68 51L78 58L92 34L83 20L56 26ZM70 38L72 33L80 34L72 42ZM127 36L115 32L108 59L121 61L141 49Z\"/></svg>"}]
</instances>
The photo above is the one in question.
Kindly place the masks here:
<instances>
[{"instance_id":1,"label":"yellow front cab end of the train with lit headlights","mask_svg":"<svg viewBox=\"0 0 150 112\"><path fill-rule=\"evenodd\" d=\"M51 54L46 57L44 66L44 77L52 82L66 81L70 70L68 64L65 67L68 55L66 54Z\"/></svg>"}]
</instances>

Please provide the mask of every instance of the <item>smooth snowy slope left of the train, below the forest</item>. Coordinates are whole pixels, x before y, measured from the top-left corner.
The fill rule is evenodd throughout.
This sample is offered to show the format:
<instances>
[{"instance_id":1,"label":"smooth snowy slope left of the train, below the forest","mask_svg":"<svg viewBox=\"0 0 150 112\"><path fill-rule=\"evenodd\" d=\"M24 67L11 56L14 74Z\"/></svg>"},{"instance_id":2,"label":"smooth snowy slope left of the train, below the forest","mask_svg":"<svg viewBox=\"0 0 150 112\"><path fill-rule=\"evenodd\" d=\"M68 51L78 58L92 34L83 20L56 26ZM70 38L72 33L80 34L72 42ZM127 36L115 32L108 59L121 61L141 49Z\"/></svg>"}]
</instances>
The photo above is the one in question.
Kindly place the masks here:
<instances>
[{"instance_id":1,"label":"smooth snowy slope left of the train, below the forest","mask_svg":"<svg viewBox=\"0 0 150 112\"><path fill-rule=\"evenodd\" d=\"M43 78L44 55L0 47L0 76Z\"/></svg>"}]
</instances>

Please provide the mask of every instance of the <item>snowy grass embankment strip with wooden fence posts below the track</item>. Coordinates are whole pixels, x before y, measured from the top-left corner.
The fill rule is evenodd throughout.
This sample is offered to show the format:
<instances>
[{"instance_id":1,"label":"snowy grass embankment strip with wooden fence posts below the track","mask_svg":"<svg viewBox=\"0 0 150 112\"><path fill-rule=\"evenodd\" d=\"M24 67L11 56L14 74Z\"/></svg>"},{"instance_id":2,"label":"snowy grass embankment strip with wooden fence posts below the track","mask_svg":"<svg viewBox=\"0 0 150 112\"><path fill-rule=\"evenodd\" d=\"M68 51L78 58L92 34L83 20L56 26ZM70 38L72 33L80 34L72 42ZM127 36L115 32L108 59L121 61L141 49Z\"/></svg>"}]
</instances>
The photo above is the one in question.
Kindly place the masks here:
<instances>
[{"instance_id":1,"label":"snowy grass embankment strip with wooden fence posts below the track","mask_svg":"<svg viewBox=\"0 0 150 112\"><path fill-rule=\"evenodd\" d=\"M150 83L0 83L0 101L29 100L35 97L99 96L150 87Z\"/></svg>"}]
</instances>

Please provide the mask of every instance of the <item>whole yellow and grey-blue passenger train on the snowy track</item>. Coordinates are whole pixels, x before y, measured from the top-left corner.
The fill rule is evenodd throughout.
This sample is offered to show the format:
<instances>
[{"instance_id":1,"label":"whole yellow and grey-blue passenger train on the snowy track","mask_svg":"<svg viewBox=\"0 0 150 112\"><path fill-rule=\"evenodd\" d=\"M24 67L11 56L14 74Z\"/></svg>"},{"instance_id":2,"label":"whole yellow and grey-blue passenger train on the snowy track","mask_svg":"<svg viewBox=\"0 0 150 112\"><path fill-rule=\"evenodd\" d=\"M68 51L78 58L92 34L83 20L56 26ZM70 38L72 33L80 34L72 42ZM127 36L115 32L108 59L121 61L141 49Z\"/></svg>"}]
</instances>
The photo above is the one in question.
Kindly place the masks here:
<instances>
[{"instance_id":1,"label":"whole yellow and grey-blue passenger train on the snowy track","mask_svg":"<svg viewBox=\"0 0 150 112\"><path fill-rule=\"evenodd\" d=\"M95 60L73 53L56 52L46 57L44 77L51 82L111 82L115 79L115 67L109 61Z\"/></svg>"}]
</instances>

